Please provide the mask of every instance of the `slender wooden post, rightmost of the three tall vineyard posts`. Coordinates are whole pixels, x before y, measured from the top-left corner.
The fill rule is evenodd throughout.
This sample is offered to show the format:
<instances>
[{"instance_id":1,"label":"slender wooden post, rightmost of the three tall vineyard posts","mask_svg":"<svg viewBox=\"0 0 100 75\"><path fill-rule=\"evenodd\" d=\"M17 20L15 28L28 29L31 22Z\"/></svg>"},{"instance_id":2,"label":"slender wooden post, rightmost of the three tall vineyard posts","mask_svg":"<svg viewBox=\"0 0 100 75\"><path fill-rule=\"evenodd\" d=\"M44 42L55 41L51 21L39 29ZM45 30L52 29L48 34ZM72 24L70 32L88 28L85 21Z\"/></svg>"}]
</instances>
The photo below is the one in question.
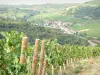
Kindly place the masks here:
<instances>
[{"instance_id":1,"label":"slender wooden post, rightmost of the three tall vineyard posts","mask_svg":"<svg viewBox=\"0 0 100 75\"><path fill-rule=\"evenodd\" d=\"M41 75L42 74L43 61L44 61L44 51L45 51L45 40L42 41L38 75Z\"/></svg>"}]
</instances>

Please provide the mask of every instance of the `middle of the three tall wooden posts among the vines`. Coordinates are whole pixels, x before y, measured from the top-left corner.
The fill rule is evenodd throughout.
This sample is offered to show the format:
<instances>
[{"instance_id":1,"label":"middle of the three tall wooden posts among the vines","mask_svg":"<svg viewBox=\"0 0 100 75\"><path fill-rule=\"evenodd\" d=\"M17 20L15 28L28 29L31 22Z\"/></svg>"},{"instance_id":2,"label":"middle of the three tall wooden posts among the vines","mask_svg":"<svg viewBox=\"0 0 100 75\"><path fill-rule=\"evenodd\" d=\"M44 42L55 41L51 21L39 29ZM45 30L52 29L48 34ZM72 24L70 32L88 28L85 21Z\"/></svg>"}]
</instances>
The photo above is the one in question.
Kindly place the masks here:
<instances>
[{"instance_id":1,"label":"middle of the three tall wooden posts among the vines","mask_svg":"<svg viewBox=\"0 0 100 75\"><path fill-rule=\"evenodd\" d=\"M40 43L40 40L36 39L35 49L34 49L34 54L33 54L33 63L32 63L33 75L36 75L36 65L37 65L37 59L38 59L39 43Z\"/></svg>"}]
</instances>

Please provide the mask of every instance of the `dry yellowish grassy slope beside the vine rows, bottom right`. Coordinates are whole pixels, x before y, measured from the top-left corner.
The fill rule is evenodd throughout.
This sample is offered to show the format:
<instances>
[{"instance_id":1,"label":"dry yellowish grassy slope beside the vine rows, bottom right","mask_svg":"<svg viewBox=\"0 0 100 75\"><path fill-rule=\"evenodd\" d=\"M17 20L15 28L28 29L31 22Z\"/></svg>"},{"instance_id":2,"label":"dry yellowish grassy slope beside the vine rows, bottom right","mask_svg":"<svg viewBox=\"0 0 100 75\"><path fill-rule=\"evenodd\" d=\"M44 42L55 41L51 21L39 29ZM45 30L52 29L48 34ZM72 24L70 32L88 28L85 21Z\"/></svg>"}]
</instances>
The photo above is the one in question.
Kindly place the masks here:
<instances>
[{"instance_id":1,"label":"dry yellowish grassy slope beside the vine rows, bottom right","mask_svg":"<svg viewBox=\"0 0 100 75\"><path fill-rule=\"evenodd\" d=\"M100 75L100 57L75 61L66 67L63 75ZM92 64L93 63L93 64Z\"/></svg>"}]
</instances>

